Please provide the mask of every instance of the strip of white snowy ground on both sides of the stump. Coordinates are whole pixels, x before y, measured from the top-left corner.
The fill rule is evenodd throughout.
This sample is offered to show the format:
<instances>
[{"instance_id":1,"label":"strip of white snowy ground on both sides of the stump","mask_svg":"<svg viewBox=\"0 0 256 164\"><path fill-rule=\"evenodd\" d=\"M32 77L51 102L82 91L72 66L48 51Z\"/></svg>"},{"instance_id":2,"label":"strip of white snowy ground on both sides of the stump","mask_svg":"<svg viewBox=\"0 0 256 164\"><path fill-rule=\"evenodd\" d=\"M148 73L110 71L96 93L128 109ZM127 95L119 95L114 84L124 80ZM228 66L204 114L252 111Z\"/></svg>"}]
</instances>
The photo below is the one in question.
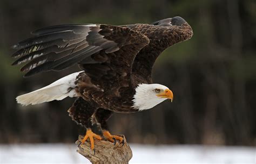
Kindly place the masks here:
<instances>
[{"instance_id":1,"label":"strip of white snowy ground on both sides of the stump","mask_svg":"<svg viewBox=\"0 0 256 164\"><path fill-rule=\"evenodd\" d=\"M255 147L130 144L130 163L256 163ZM0 145L0 163L89 163L75 144Z\"/></svg>"}]
</instances>

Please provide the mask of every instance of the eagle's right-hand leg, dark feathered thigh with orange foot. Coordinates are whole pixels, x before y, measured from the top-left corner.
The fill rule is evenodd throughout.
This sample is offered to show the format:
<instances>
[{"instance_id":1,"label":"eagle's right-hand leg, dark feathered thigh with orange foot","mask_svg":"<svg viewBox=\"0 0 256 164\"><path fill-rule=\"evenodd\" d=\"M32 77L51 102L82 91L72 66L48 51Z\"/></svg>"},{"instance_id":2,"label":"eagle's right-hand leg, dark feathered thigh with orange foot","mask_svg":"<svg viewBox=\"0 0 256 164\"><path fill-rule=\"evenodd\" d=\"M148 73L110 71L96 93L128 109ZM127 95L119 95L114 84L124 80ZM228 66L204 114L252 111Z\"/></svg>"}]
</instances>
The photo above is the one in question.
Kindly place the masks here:
<instances>
[{"instance_id":1,"label":"eagle's right-hand leg, dark feathered thigh with orange foot","mask_svg":"<svg viewBox=\"0 0 256 164\"><path fill-rule=\"evenodd\" d=\"M110 116L112 116L112 114L113 114L113 112L110 110L99 108L99 109L97 109L97 111L95 113L96 122L100 126L103 136L107 140L113 142L114 145L116 145L116 141L119 140L119 142L124 145L123 137L114 136L114 135L110 134L109 128L107 127L106 121L107 121L107 119L110 118Z\"/></svg>"}]
</instances>

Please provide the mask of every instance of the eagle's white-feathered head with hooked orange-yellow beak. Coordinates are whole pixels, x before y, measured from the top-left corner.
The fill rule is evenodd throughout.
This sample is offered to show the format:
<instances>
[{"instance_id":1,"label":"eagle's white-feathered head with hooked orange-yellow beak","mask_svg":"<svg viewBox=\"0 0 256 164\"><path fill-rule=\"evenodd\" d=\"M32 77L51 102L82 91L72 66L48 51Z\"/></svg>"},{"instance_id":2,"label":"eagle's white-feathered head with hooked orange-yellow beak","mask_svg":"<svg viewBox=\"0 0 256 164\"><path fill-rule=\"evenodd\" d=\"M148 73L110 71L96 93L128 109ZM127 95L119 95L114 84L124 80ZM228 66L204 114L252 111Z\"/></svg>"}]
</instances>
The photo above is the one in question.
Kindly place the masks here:
<instances>
[{"instance_id":1,"label":"eagle's white-feathered head with hooked orange-yellow beak","mask_svg":"<svg viewBox=\"0 0 256 164\"><path fill-rule=\"evenodd\" d=\"M173 100L172 91L161 84L139 84L133 96L133 108L146 110L153 108L165 99Z\"/></svg>"}]
</instances>

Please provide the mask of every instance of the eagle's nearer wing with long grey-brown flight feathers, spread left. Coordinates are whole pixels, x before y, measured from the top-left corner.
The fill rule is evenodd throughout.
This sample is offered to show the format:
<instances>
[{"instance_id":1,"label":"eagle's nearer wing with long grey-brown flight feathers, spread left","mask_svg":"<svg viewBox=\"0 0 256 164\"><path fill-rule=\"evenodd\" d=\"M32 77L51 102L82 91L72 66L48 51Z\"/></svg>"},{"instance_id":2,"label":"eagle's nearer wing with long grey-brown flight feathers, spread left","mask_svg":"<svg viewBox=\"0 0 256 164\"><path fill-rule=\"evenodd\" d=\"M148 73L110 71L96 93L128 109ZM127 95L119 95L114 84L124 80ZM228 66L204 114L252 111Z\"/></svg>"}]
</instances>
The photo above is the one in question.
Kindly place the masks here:
<instances>
[{"instance_id":1,"label":"eagle's nearer wing with long grey-brown flight feathers, spread left","mask_svg":"<svg viewBox=\"0 0 256 164\"><path fill-rule=\"evenodd\" d=\"M133 59L149 43L139 32L112 25L59 25L32 34L36 36L13 46L18 51L12 56L19 57L13 65L29 61L21 68L28 71L25 76L79 63L98 85L111 79L118 84L119 77L130 80Z\"/></svg>"}]
</instances>

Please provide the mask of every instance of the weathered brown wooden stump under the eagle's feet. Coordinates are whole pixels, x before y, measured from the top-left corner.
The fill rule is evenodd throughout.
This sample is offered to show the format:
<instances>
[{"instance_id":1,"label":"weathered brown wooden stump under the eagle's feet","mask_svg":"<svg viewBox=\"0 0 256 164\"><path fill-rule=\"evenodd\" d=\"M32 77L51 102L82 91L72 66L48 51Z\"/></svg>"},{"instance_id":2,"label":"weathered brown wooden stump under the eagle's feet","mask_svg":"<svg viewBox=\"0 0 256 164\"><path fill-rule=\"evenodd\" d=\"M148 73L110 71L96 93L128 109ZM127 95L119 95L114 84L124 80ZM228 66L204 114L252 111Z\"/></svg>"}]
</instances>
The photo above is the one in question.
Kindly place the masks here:
<instances>
[{"instance_id":1,"label":"weathered brown wooden stump under the eagle's feet","mask_svg":"<svg viewBox=\"0 0 256 164\"><path fill-rule=\"evenodd\" d=\"M118 141L114 145L110 141L97 140L95 139L95 154L91 150L89 139L84 143L80 144L83 140L83 136L79 136L76 144L78 146L77 152L82 154L85 158L89 159L92 163L128 163L132 158L132 150L127 144L125 137L124 146Z\"/></svg>"}]
</instances>

